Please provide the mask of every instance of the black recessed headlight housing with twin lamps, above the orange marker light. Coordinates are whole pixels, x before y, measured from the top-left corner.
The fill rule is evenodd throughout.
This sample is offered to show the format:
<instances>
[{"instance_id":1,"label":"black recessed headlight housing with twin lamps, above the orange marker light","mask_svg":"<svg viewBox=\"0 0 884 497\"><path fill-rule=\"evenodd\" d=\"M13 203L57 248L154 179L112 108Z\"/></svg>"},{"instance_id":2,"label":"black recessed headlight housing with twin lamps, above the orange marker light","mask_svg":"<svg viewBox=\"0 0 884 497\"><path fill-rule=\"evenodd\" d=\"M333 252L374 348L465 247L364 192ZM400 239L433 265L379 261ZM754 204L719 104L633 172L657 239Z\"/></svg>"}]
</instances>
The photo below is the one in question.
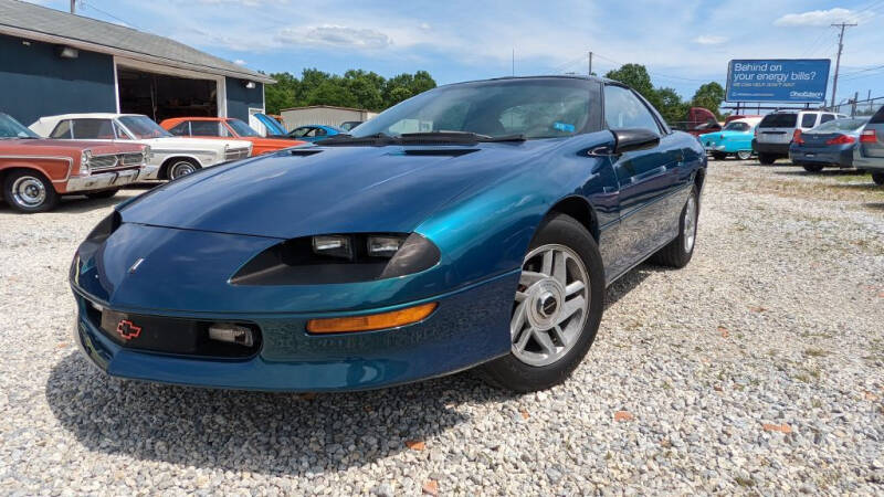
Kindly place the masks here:
<instances>
[{"instance_id":1,"label":"black recessed headlight housing with twin lamps, above the orange marker light","mask_svg":"<svg viewBox=\"0 0 884 497\"><path fill-rule=\"evenodd\" d=\"M420 273L441 254L418 233L327 234L293 239L245 263L233 285L320 285L371 282Z\"/></svg>"}]
</instances>

